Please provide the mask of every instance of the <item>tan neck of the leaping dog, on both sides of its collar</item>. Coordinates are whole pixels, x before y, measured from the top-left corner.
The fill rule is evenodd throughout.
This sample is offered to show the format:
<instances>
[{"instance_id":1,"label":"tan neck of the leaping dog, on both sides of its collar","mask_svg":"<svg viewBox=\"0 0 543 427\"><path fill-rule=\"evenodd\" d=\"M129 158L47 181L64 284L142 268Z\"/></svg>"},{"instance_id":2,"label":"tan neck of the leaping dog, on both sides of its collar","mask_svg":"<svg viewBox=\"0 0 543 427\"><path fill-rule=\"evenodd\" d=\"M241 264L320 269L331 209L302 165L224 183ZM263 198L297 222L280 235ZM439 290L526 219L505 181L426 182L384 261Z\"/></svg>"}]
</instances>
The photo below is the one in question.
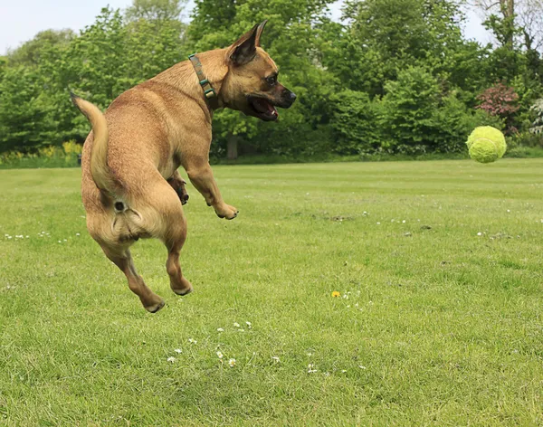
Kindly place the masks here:
<instances>
[{"instance_id":1,"label":"tan neck of the leaping dog, on both sides of its collar","mask_svg":"<svg viewBox=\"0 0 543 427\"><path fill-rule=\"evenodd\" d=\"M221 96L221 89L224 78L228 73L228 65L225 62L227 49L217 49L214 51L197 53L198 60L202 64L205 78L209 81L218 97L219 108L224 108L224 100ZM211 110L211 107L205 100L204 90L200 86L198 76L193 64L190 61L178 62L173 67L162 71L151 81L157 81L169 86L173 86L196 100L203 109ZM211 111L210 111L211 112Z\"/></svg>"}]
</instances>

